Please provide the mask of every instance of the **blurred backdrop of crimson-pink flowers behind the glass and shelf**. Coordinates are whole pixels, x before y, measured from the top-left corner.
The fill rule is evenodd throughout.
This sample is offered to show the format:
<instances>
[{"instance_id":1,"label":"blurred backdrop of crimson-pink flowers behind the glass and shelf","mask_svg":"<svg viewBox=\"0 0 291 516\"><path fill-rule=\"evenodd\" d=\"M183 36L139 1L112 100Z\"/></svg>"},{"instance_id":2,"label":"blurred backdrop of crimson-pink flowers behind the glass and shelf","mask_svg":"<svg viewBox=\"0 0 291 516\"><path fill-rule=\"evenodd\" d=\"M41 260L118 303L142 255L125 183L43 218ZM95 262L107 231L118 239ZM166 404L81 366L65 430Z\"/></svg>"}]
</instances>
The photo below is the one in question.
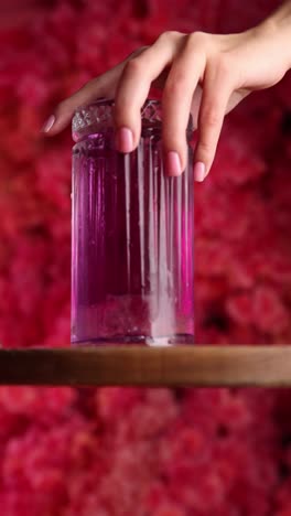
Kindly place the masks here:
<instances>
[{"instance_id":1,"label":"blurred backdrop of crimson-pink flowers behind the glass and shelf","mask_svg":"<svg viewBox=\"0 0 291 516\"><path fill-rule=\"evenodd\" d=\"M72 141L43 139L43 121L162 31L238 31L280 2L55 0L26 17L14 3L0 28L0 342L66 346ZM287 75L227 117L195 187L198 343L291 343L290 92ZM1 514L291 516L290 402L289 390L2 387Z\"/></svg>"}]
</instances>

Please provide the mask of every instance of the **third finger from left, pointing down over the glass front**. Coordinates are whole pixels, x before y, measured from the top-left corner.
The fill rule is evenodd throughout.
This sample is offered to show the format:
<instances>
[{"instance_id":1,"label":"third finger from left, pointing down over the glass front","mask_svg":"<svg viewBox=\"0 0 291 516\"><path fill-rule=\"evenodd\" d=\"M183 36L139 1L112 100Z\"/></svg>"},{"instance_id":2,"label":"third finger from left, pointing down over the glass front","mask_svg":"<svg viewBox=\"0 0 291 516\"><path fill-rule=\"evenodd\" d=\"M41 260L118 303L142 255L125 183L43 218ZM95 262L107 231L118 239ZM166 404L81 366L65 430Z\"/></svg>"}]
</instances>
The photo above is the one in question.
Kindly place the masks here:
<instances>
[{"instance_id":1,"label":"third finger from left, pointing down over the glass front","mask_svg":"<svg viewBox=\"0 0 291 516\"><path fill-rule=\"evenodd\" d=\"M164 159L170 175L180 175L186 166L186 128L193 94L204 67L204 54L196 53L188 43L173 62L162 97Z\"/></svg>"}]
</instances>

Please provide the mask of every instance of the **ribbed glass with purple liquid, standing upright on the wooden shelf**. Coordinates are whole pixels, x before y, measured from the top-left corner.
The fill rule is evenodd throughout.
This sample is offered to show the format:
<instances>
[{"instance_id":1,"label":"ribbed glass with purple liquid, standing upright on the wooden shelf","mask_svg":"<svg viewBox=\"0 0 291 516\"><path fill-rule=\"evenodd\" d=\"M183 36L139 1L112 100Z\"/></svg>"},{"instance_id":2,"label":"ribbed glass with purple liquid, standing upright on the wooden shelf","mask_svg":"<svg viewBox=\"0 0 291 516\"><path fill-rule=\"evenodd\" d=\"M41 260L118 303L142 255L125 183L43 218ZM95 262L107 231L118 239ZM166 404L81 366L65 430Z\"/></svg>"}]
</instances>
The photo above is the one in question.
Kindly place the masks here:
<instances>
[{"instance_id":1,"label":"ribbed glass with purple liquid, standing upright on the wooden shelf","mask_svg":"<svg viewBox=\"0 0 291 516\"><path fill-rule=\"evenodd\" d=\"M99 100L73 120L72 343L192 344L192 149L168 176L161 106L148 100L138 149L117 152L112 108Z\"/></svg>"}]
</instances>

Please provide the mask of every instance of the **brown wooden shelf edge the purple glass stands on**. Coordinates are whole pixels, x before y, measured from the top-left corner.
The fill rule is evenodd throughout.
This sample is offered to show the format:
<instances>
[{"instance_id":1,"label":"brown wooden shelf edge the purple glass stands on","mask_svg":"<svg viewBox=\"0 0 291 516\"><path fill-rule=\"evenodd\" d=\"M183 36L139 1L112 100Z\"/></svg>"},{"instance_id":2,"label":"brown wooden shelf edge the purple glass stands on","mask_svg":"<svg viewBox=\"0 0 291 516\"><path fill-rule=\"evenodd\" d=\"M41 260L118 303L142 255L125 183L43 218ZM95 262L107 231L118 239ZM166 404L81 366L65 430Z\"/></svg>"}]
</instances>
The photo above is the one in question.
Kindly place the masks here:
<instances>
[{"instance_id":1,"label":"brown wooden shelf edge the purple glass stands on","mask_svg":"<svg viewBox=\"0 0 291 516\"><path fill-rule=\"evenodd\" d=\"M291 345L0 350L0 385L291 387Z\"/></svg>"}]
</instances>

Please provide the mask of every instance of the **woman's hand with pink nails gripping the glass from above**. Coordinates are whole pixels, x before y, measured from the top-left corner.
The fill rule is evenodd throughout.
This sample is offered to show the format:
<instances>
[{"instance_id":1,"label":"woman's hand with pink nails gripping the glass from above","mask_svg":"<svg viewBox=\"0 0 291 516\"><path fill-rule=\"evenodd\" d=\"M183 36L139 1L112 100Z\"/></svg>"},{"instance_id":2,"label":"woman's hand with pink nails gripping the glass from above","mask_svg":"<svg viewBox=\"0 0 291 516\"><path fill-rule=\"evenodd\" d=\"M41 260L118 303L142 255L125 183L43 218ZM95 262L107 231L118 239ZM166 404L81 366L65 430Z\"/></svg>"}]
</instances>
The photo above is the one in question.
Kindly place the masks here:
<instances>
[{"instance_id":1,"label":"woman's hand with pink nails gripping the glass from above","mask_svg":"<svg viewBox=\"0 0 291 516\"><path fill-rule=\"evenodd\" d=\"M98 97L115 98L116 146L121 152L131 152L140 138L140 110L153 85L163 89L168 173L180 175L185 168L185 132L192 112L198 130L194 175L203 181L212 166L225 115L250 92L278 83L290 67L291 24L285 32L279 25L276 14L239 34L164 32L153 45L139 49L62 101L43 131L56 135L78 106Z\"/></svg>"}]
</instances>

